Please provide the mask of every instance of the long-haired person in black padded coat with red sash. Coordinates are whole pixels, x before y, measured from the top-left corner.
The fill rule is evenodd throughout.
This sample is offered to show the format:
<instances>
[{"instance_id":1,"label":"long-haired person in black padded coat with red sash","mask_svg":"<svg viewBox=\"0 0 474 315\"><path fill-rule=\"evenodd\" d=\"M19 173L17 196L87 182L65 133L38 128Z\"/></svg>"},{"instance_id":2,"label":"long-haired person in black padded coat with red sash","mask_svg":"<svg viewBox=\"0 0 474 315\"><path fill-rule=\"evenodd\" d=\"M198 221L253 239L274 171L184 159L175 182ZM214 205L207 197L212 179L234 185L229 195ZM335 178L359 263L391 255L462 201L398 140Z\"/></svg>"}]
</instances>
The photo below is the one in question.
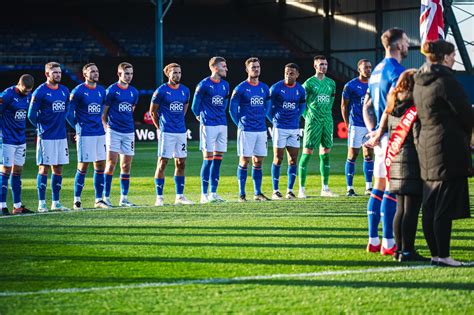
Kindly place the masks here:
<instances>
[{"instance_id":1,"label":"long-haired person in black padded coat with red sash","mask_svg":"<svg viewBox=\"0 0 474 315\"><path fill-rule=\"evenodd\" d=\"M400 75L395 89L388 96L385 111L389 114L389 137L392 136L408 109L414 106L413 77L416 70L405 70ZM420 123L415 120L390 166L390 192L397 196L397 212L393 220L397 244L394 257L399 261L429 261L415 250L415 236L423 193L413 136L418 135L419 132Z\"/></svg>"}]
</instances>

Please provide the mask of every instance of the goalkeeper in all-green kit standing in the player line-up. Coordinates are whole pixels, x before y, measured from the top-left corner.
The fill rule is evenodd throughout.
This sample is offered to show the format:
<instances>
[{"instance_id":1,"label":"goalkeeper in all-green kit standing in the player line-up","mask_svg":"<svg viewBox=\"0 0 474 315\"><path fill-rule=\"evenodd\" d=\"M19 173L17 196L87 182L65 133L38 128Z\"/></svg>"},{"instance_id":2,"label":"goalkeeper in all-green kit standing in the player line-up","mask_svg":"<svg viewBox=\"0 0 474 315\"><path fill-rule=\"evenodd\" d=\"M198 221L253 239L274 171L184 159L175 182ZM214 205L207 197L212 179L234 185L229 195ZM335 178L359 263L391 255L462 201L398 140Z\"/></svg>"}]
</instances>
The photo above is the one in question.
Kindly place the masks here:
<instances>
[{"instance_id":1,"label":"goalkeeper in all-green kit standing in the player line-up","mask_svg":"<svg viewBox=\"0 0 474 315\"><path fill-rule=\"evenodd\" d=\"M300 189L298 198L306 198L305 183L308 171L308 162L314 149L319 148L320 171L322 177L322 197L337 197L329 190L329 152L332 148L333 126L332 105L336 94L336 83L326 77L328 61L319 55L314 57L316 74L306 80L303 87L306 91L306 111L303 136L303 154L301 155L298 177Z\"/></svg>"}]
</instances>

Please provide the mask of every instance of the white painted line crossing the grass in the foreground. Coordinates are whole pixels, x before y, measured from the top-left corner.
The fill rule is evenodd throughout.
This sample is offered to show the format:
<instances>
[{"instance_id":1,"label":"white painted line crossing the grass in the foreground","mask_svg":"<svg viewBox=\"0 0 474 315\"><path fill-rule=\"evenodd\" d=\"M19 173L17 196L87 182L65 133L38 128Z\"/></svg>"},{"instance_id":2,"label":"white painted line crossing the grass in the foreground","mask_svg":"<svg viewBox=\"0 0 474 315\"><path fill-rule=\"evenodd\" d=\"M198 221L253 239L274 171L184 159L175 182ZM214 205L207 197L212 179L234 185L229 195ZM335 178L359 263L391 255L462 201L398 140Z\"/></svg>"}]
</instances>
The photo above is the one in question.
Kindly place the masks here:
<instances>
[{"instance_id":1,"label":"white painted line crossing the grass in the foreground","mask_svg":"<svg viewBox=\"0 0 474 315\"><path fill-rule=\"evenodd\" d=\"M474 265L474 262L469 262L466 265L472 266ZM309 273L274 274L274 275L261 275L261 276L257 275L257 276L245 276L245 277L234 277L234 278L182 280L182 281L175 281L175 282L145 282L145 283L105 286L105 287L64 288L64 289L39 290L39 291L29 291L29 292L28 291L26 292L4 291L4 292L0 292L0 297L42 295L42 294L52 294L52 293L88 293L88 292L109 291L109 290L118 290L118 289L143 289L143 288L173 287L173 286L195 285L195 284L230 284L230 283L256 281L256 280L313 278L313 277L339 276L339 275L359 274L359 273L376 273L376 272L390 272L390 271L397 272L397 271L408 271L408 270L427 269L427 268L434 268L434 266L422 265L422 266L408 266L408 267L382 267L382 268L352 269L352 270L340 270L340 271L320 271L320 272L309 272Z\"/></svg>"}]
</instances>

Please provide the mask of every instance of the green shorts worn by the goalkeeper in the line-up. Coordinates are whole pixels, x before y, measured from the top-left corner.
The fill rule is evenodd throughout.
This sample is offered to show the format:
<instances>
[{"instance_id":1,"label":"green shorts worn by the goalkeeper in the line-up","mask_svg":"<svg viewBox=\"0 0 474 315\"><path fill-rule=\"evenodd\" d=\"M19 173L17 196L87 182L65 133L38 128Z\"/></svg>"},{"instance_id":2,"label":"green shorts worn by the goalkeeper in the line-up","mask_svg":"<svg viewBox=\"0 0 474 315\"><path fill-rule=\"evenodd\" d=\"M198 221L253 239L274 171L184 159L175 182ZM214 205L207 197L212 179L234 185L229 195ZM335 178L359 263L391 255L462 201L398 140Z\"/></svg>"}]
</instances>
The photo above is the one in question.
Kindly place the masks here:
<instances>
[{"instance_id":1,"label":"green shorts worn by the goalkeeper in the line-up","mask_svg":"<svg viewBox=\"0 0 474 315\"><path fill-rule=\"evenodd\" d=\"M332 148L334 123L332 117L328 121L306 121L304 125L303 148L314 150L321 146Z\"/></svg>"}]
</instances>

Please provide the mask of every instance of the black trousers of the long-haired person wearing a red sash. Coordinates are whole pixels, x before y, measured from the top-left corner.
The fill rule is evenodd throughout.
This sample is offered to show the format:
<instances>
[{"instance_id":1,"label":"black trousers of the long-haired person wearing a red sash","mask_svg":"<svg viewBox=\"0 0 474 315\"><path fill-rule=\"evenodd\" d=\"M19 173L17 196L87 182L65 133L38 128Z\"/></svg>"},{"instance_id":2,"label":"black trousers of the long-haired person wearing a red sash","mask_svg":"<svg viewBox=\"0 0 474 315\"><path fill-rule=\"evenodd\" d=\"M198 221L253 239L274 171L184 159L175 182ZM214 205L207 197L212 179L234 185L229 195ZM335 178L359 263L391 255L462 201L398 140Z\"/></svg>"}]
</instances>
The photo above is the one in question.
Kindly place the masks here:
<instances>
[{"instance_id":1,"label":"black trousers of the long-haired person wearing a red sash","mask_svg":"<svg viewBox=\"0 0 474 315\"><path fill-rule=\"evenodd\" d=\"M421 201L420 195L397 195L397 212L393 219L393 231L399 251L413 252L415 250Z\"/></svg>"}]
</instances>

